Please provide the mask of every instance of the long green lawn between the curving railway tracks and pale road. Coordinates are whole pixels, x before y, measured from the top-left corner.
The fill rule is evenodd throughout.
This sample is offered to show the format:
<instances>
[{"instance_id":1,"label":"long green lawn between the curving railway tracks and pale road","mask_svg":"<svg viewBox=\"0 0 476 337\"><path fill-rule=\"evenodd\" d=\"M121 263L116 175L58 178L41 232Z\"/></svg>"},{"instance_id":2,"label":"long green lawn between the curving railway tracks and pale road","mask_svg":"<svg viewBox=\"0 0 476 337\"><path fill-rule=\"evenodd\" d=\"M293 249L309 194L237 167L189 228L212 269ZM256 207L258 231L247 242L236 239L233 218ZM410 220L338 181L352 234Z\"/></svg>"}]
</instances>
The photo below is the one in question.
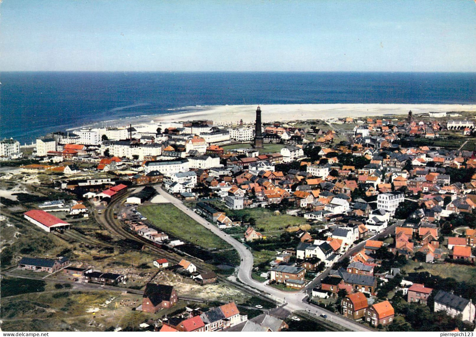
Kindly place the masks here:
<instances>
[{"instance_id":1,"label":"long green lawn between the curving railway tracks and pale road","mask_svg":"<svg viewBox=\"0 0 476 337\"><path fill-rule=\"evenodd\" d=\"M228 243L171 204L142 206L139 211L160 230L202 248L231 248Z\"/></svg>"}]
</instances>

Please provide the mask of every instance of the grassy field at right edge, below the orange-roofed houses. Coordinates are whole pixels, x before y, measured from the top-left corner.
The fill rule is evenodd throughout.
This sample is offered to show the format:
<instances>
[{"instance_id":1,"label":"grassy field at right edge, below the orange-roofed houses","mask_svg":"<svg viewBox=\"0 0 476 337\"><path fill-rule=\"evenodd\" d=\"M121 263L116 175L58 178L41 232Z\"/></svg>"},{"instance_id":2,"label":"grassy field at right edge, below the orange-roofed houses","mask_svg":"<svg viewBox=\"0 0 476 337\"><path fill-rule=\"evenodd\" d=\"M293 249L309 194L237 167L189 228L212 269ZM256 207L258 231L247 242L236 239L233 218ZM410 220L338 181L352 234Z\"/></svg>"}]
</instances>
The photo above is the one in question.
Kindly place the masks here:
<instances>
[{"instance_id":1,"label":"grassy field at right edge, below the orange-roofed houses","mask_svg":"<svg viewBox=\"0 0 476 337\"><path fill-rule=\"evenodd\" d=\"M408 261L408 264L403 268L407 273L415 272L415 268L420 266L420 262L412 260ZM423 269L417 270L417 272L427 271L431 275L440 276L442 278L453 278L456 281L465 281L468 283L476 284L476 268L474 266L465 266L453 263L421 263Z\"/></svg>"}]
</instances>

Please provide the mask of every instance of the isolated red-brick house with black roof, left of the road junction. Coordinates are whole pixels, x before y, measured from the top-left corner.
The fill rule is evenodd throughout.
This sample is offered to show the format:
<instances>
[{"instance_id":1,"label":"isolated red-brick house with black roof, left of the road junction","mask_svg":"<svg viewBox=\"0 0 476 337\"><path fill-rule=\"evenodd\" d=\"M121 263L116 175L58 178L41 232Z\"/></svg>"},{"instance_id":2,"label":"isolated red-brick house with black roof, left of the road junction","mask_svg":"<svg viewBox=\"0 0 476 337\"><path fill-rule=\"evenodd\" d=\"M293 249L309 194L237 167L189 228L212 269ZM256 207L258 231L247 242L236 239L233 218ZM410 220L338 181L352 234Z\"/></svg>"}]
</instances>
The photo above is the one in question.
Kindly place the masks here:
<instances>
[{"instance_id":1,"label":"isolated red-brick house with black roof, left of the road junction","mask_svg":"<svg viewBox=\"0 0 476 337\"><path fill-rule=\"evenodd\" d=\"M142 311L155 313L177 304L178 296L173 286L147 283L142 295Z\"/></svg>"}]
</instances>

